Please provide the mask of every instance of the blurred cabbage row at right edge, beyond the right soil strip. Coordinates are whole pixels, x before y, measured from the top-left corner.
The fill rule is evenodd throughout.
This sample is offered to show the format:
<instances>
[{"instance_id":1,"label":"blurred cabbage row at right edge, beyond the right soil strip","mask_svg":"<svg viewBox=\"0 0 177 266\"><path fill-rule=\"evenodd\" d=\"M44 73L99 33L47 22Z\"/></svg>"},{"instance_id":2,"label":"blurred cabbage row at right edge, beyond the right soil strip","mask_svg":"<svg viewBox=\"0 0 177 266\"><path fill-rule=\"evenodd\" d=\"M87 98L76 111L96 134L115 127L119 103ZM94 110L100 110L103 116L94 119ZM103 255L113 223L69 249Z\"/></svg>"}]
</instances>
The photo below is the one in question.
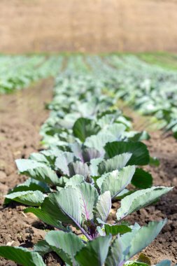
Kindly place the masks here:
<instances>
[{"instance_id":1,"label":"blurred cabbage row at right edge, beyond the right soil strip","mask_svg":"<svg viewBox=\"0 0 177 266\"><path fill-rule=\"evenodd\" d=\"M109 56L106 62L118 69L113 83L117 95L143 115L155 116L165 131L177 139L177 73L150 65L134 55Z\"/></svg>"}]
</instances>

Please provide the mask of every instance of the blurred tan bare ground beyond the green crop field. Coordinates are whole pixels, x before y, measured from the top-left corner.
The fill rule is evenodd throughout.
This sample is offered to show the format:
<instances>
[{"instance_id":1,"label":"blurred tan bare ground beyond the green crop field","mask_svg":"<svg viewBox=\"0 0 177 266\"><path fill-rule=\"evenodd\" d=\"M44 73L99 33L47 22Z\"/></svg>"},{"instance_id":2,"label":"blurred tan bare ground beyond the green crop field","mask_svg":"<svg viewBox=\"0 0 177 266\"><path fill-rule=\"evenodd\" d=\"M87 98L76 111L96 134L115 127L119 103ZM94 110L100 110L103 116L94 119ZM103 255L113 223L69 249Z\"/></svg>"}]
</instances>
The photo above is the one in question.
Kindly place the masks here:
<instances>
[{"instance_id":1,"label":"blurred tan bare ground beyond the green crop field","mask_svg":"<svg viewBox=\"0 0 177 266\"><path fill-rule=\"evenodd\" d=\"M1 0L0 52L176 52L176 0Z\"/></svg>"}]
</instances>

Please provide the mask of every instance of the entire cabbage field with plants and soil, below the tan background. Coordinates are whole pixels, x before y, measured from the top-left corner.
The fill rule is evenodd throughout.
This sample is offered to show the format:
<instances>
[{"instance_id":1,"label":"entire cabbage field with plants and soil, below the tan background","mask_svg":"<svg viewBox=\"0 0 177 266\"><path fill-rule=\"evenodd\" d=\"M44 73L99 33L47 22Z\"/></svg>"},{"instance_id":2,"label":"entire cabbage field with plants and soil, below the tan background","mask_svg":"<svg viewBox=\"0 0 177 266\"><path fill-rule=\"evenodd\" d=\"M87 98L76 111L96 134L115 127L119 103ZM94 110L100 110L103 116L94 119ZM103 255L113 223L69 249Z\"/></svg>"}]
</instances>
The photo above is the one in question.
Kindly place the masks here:
<instances>
[{"instance_id":1,"label":"entire cabbage field with plants and soil, below the tan background","mask_svg":"<svg viewBox=\"0 0 177 266\"><path fill-rule=\"evenodd\" d=\"M177 55L0 55L0 265L177 263Z\"/></svg>"}]
</instances>

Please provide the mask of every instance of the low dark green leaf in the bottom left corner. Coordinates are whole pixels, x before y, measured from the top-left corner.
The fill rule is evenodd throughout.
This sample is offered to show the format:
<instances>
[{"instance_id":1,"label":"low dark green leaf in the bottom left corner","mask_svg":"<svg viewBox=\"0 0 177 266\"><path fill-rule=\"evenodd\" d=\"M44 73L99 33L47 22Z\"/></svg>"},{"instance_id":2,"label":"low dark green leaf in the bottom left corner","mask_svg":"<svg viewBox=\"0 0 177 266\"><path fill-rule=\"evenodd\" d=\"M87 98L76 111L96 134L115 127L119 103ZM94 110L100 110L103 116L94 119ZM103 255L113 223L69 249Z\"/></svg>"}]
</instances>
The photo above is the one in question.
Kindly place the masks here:
<instances>
[{"instance_id":1,"label":"low dark green leaf in the bottom left corner","mask_svg":"<svg viewBox=\"0 0 177 266\"><path fill-rule=\"evenodd\" d=\"M37 252L15 246L0 246L0 257L13 260L25 266L45 266L43 258Z\"/></svg>"}]
</instances>

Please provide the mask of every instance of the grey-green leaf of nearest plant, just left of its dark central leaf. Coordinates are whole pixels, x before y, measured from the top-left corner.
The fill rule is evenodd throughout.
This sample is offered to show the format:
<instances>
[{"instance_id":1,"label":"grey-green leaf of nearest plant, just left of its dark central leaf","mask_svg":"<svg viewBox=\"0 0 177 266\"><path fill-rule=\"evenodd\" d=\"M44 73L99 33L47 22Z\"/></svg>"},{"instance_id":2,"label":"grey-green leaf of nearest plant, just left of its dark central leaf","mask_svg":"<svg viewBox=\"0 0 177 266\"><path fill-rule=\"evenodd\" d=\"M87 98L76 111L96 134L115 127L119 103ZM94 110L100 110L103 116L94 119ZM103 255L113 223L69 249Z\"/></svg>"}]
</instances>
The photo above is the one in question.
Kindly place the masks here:
<instances>
[{"instance_id":1,"label":"grey-green leaf of nearest plant, just left of its dark central leaf","mask_svg":"<svg viewBox=\"0 0 177 266\"><path fill-rule=\"evenodd\" d=\"M69 265L78 265L74 257L85 246L78 236L72 232L50 231L45 236L45 241L52 248L52 251L55 251L64 262Z\"/></svg>"}]
</instances>

